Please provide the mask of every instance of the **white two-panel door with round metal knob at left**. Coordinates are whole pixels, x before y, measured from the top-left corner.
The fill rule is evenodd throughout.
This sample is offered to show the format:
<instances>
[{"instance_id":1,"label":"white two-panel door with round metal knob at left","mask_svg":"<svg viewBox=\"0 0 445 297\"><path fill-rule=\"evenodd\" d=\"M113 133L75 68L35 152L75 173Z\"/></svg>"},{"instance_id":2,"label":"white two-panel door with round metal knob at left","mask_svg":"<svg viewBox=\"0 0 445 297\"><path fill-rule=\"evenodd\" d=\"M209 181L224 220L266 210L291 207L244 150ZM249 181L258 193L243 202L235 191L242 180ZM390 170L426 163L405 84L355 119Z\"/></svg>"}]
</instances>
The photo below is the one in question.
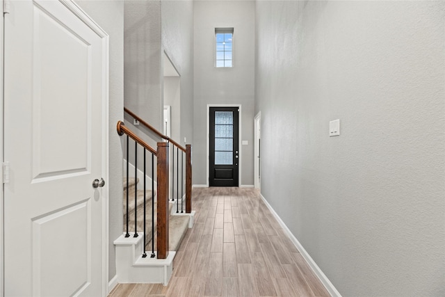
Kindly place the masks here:
<instances>
[{"instance_id":1,"label":"white two-panel door with round metal knob at left","mask_svg":"<svg viewBox=\"0 0 445 297\"><path fill-rule=\"evenodd\" d=\"M70 1L5 17L5 296L101 296L108 39ZM103 31L102 31L103 32ZM104 191L104 192L103 192Z\"/></svg>"}]
</instances>

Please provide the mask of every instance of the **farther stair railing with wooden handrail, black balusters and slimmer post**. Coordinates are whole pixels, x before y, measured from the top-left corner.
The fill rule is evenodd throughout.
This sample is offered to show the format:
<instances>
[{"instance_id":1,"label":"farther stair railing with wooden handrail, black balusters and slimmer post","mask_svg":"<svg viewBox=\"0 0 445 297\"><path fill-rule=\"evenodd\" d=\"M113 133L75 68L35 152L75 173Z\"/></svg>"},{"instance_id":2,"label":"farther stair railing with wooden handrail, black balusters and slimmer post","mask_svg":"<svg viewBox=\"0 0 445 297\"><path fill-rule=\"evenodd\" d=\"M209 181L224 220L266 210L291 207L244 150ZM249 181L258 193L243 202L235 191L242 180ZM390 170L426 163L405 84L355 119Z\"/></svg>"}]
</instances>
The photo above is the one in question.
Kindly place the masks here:
<instances>
[{"instance_id":1,"label":"farther stair railing with wooden handrail, black balusters and slimmer post","mask_svg":"<svg viewBox=\"0 0 445 297\"><path fill-rule=\"evenodd\" d=\"M171 182L171 193L172 193L172 201L175 202L176 195L176 212L184 213L184 183L186 186L185 189L185 212L186 214L190 214L192 211L192 160L191 160L191 145L186 145L186 147L181 146L176 141L172 140L172 138L165 136L160 131L149 125L142 118L138 117L136 113L133 113L129 109L124 107L125 113L131 116L131 118L138 120L140 125L143 125L149 131L156 134L160 138L168 141L170 143L170 150L172 152L172 167L169 176L172 179ZM184 164L185 158L185 164ZM185 169L185 170L184 170ZM180 175L180 176L179 176ZM185 179L184 179L185 175ZM175 177L176 177L176 191L175 191ZM179 200L181 201L179 205Z\"/></svg>"}]
</instances>

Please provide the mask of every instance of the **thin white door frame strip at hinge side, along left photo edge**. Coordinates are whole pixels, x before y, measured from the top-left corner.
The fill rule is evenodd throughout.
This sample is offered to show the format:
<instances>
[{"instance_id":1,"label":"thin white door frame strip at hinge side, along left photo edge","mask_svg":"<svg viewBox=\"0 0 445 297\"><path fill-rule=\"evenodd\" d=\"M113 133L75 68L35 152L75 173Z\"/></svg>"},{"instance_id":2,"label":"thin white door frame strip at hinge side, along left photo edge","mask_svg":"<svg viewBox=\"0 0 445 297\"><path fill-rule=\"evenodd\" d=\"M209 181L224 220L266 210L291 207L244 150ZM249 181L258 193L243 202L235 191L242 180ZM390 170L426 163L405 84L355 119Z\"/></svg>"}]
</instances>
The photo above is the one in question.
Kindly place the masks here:
<instances>
[{"instance_id":1,"label":"thin white door frame strip at hinge side, along left photo edge","mask_svg":"<svg viewBox=\"0 0 445 297\"><path fill-rule=\"evenodd\" d=\"M0 13L3 16L3 0L0 0ZM3 23L4 23L4 17L1 19L0 22L0 164L3 164ZM0 177L3 179L3 166L0 166ZM3 182L3 180L2 180ZM5 269L4 267L4 253L3 253L3 239L4 239L4 232L3 232L3 184L1 184L1 191L0 191L0 297L4 296L4 275L3 271Z\"/></svg>"}]
</instances>

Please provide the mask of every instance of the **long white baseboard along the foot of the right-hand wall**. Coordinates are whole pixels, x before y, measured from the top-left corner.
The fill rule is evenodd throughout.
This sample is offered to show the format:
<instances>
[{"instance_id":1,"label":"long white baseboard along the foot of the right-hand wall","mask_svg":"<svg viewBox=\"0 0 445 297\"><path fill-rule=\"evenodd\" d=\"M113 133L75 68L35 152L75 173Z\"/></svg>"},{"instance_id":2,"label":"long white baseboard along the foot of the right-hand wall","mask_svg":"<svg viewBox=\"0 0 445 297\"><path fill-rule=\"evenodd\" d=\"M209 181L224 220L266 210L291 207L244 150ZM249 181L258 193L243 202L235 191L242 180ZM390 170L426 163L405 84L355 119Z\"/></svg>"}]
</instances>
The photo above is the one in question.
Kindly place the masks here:
<instances>
[{"instance_id":1,"label":"long white baseboard along the foot of the right-hand wall","mask_svg":"<svg viewBox=\"0 0 445 297\"><path fill-rule=\"evenodd\" d=\"M286 224L283 222L283 220L280 218L280 216L278 216L278 214L275 212L275 210L270 206L270 204L269 204L269 202L267 202L266 198L264 198L264 196L262 194L260 194L260 195L261 195L261 199L264 201L264 204L266 204L266 206L268 207L270 212L273 214L275 219L277 219L278 223L280 223L284 232L286 232L286 234L289 236L289 239L291 239L292 243L296 246L296 248L298 249L298 251L300 252L302 257L305 258L307 264L309 264L309 266L312 268L312 271L314 271L314 273L316 274L318 279L321 281L321 283L325 286L325 288L327 289L329 294L331 296L341 297L341 294L334 287L334 284L332 284L332 282L330 282L330 280L327 278L325 273L323 273L323 271L321 271L320 267L318 267L318 265L316 264L314 259L312 259L312 257L305 250L305 248L303 248L300 241L298 241L298 239L296 239L296 236L294 236L292 234L291 230L289 230L289 228L286 226Z\"/></svg>"}]
</instances>

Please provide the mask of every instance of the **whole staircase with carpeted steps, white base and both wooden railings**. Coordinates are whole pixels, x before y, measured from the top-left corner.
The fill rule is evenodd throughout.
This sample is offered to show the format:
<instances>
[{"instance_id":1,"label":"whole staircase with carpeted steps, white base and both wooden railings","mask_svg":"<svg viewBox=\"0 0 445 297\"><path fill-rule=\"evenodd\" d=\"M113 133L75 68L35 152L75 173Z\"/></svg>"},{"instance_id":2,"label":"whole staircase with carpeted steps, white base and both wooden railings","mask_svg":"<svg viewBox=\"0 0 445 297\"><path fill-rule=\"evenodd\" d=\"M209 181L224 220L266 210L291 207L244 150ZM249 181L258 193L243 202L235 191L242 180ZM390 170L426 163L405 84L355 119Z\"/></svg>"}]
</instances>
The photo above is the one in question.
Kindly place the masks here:
<instances>
[{"instance_id":1,"label":"whole staircase with carpeted steps, white base and both wooden railings","mask_svg":"<svg viewBox=\"0 0 445 297\"><path fill-rule=\"evenodd\" d=\"M138 120L141 125L159 136L160 139L156 141L155 148L151 147L125 126L124 122L118 121L118 135L124 136L126 147L126 157L124 157L126 170L122 200L124 232L114 241L116 278L113 281L167 285L172 275L176 250L187 229L193 227L195 211L192 210L191 200L191 145L182 147L131 111L127 109L124 111L127 115L131 115L133 120ZM130 143L131 150L134 152L131 160L129 159ZM169 152L176 152L176 157L173 153L170 156ZM140 162L138 162L138 154ZM151 166L147 166L147 155ZM180 159L179 156L181 156ZM129 170L130 166L134 171ZM131 172L134 172L133 177L131 177ZM155 179L152 180L149 177ZM175 193L179 200L175 199L173 202L168 198L169 183L171 193L173 193L175 182ZM185 195L183 185L185 186ZM147 189L148 187L150 190L140 190L140 188ZM179 195L179 189L181 189L181 195ZM152 191L154 192L152 193Z\"/></svg>"}]
</instances>

